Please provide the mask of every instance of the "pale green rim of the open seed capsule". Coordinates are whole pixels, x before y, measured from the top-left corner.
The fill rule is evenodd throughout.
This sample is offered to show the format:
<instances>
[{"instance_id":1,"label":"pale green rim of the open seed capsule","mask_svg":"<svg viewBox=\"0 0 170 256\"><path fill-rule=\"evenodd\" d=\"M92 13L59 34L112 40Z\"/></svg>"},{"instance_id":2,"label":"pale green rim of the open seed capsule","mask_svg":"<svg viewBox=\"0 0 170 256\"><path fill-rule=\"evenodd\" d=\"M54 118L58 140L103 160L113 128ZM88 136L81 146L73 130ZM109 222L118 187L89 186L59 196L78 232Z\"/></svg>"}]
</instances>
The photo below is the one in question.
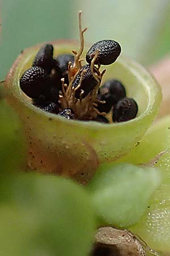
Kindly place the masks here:
<instances>
[{"instance_id":1,"label":"pale green rim of the open seed capsule","mask_svg":"<svg viewBox=\"0 0 170 256\"><path fill-rule=\"evenodd\" d=\"M77 48L77 43L70 40L70 41L63 41L63 40L57 40L54 42L49 42L52 43L54 46L54 56L57 56L57 54L62 54L62 53L71 53L71 47ZM51 119L58 119L59 121L63 123L70 123L70 125L78 125L78 126L83 126L83 127L88 127L88 129L91 127L92 129L97 127L97 129L110 129L111 127L114 126L127 126L130 124L133 124L135 122L139 122L143 118L147 117L148 115L152 114L153 112L158 113L159 110L159 105L162 100L162 92L160 89L160 86L158 82L154 79L154 77L149 73L145 68L143 68L140 64L135 63L135 61L132 61L128 59L125 56L121 56L118 58L116 63L120 64L122 67L127 69L127 71L130 70L131 76L136 76L138 80L141 81L142 85L145 86L145 91L146 91L146 97L148 97L148 102L147 102L147 107L144 112L141 114L137 115L136 118L131 119L130 121L126 122L120 122L120 123L109 123L106 125L105 123L99 123L99 122L94 122L94 121L79 121L79 120L67 120L66 118L59 117L59 115L52 114L52 113L47 113L44 112L43 110L37 108L36 106L33 106L29 98L25 96L25 94L22 92L20 89L19 85L19 80L20 77L23 75L23 72L25 69L28 67L31 67L32 61L37 53L37 51L40 49L40 47L44 44L40 44L35 47L30 47L25 49L16 59L14 65L12 66L11 71L8 73L7 78L6 78L6 84L8 84L8 80L12 80L9 83L11 84L10 86L7 85L8 90L12 93L12 95L22 104L26 105L29 109L32 109L33 111L37 112L40 115L44 115L48 118ZM57 51L59 50L59 52ZM28 66L29 63L29 66ZM108 67L113 69L113 78L114 77L114 65L109 65ZM27 68L26 68L27 67ZM15 76L14 75L15 72ZM139 76L140 75L140 76ZM111 79L111 77L109 77ZM126 83L125 83L125 88L126 88ZM140 92L139 92L140 93ZM137 102L138 104L138 102ZM156 116L155 114L155 116ZM155 118L155 117L154 117ZM152 120L153 121L153 120Z\"/></svg>"}]
</instances>

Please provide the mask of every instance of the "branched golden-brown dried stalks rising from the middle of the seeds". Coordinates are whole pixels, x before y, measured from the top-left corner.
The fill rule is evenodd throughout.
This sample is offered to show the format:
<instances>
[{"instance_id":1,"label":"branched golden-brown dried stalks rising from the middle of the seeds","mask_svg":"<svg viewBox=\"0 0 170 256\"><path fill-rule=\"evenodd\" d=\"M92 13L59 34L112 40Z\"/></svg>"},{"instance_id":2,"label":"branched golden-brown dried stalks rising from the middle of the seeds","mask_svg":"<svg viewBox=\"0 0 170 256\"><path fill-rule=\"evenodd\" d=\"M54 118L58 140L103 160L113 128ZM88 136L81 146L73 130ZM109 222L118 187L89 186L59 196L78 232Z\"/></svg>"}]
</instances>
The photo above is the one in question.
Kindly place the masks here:
<instances>
[{"instance_id":1,"label":"branched golden-brown dried stalks rising from the middle of the seeds","mask_svg":"<svg viewBox=\"0 0 170 256\"><path fill-rule=\"evenodd\" d=\"M86 66L82 67L81 55L84 49L84 32L87 28L82 30L81 25L81 14L79 12L79 37L80 37L80 48L79 51L73 50L75 54L74 65L71 63L68 65L68 76L69 76L69 85L65 84L65 80L61 79L62 82L62 91L59 94L59 103L61 103L62 109L72 109L74 112L75 119L79 120L91 120L97 117L100 113L99 110L96 109L97 103L97 92L99 90L101 79L105 73L105 70L100 73L100 65L95 65L95 60L97 59L97 55L99 51L96 51L96 54L91 61L90 70L86 69ZM91 75L89 75L91 74ZM89 81L88 81L89 80ZM76 86L75 86L76 81ZM91 92L86 92L86 88L84 88L83 81L89 82L89 86L94 84ZM88 84L87 84L88 86ZM82 89L83 88L83 89ZM80 93L78 91L80 90ZM78 97L77 97L78 95Z\"/></svg>"}]
</instances>

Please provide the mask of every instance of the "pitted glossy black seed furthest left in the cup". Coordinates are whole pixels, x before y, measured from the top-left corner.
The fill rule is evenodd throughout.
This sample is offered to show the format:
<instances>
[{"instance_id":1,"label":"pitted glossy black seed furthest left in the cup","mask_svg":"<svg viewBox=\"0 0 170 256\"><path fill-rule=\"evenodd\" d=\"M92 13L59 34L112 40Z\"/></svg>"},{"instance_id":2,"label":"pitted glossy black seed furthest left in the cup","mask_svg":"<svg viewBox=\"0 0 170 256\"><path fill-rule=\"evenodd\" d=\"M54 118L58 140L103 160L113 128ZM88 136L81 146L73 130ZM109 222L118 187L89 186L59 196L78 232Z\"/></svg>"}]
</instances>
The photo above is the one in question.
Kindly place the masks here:
<instances>
[{"instance_id":1,"label":"pitted glossy black seed furthest left in the cup","mask_svg":"<svg viewBox=\"0 0 170 256\"><path fill-rule=\"evenodd\" d=\"M28 97L36 98L42 94L47 80L48 74L44 68L32 67L23 73L20 79L20 88Z\"/></svg>"}]
</instances>

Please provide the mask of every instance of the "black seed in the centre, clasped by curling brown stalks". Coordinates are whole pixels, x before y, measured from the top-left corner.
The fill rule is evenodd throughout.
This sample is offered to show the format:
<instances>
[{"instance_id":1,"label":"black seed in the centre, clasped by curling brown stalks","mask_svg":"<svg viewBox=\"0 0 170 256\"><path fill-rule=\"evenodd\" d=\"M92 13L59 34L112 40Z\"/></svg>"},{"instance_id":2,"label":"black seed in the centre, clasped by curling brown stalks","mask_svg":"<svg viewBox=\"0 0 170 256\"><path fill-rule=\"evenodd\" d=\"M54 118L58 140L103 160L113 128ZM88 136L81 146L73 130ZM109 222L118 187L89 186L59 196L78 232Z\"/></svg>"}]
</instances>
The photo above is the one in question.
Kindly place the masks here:
<instances>
[{"instance_id":1,"label":"black seed in the centre, clasped by curling brown stalks","mask_svg":"<svg viewBox=\"0 0 170 256\"><path fill-rule=\"evenodd\" d=\"M94 76L91 73L90 65L84 65L80 69L78 75L75 77L72 87L76 88L79 85L81 73L83 70L86 70L86 72L83 75L82 84L80 88L77 89L75 92L76 98L80 98L80 93L82 92L82 90L84 91L84 93L82 94L82 98L86 97L87 94L90 93L97 85L97 81L95 80Z\"/></svg>"}]
</instances>

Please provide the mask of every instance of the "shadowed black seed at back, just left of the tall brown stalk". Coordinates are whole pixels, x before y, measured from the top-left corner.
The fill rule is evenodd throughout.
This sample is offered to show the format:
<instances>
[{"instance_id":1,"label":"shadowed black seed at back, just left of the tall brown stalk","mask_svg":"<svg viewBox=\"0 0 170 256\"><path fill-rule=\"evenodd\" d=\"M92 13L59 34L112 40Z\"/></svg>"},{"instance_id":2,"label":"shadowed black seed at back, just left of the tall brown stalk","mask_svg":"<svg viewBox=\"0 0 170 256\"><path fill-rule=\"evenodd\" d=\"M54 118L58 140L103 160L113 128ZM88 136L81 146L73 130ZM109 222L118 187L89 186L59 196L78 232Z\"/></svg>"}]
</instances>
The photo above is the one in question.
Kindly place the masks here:
<instances>
[{"instance_id":1,"label":"shadowed black seed at back, just left of the tall brown stalk","mask_svg":"<svg viewBox=\"0 0 170 256\"><path fill-rule=\"evenodd\" d=\"M65 79L65 84L69 83L68 79L68 64L74 64L74 55L72 54L61 54L54 58L56 60L56 70L59 72L61 78Z\"/></svg>"}]
</instances>

